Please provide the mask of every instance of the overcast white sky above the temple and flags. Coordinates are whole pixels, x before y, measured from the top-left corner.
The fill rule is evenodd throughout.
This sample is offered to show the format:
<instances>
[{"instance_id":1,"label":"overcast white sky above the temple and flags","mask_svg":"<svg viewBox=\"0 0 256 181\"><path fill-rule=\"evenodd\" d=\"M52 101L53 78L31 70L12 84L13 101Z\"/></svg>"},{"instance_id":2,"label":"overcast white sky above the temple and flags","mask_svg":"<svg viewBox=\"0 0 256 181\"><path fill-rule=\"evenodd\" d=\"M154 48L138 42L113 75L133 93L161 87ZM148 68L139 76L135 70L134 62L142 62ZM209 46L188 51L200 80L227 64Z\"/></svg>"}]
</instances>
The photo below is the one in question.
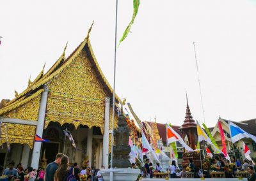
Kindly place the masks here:
<instances>
[{"instance_id":1,"label":"overcast white sky above the temple and flags","mask_svg":"<svg viewBox=\"0 0 256 181\"><path fill-rule=\"evenodd\" d=\"M120 0L118 39L132 17L132 0ZM113 85L115 0L1 1L0 99L22 92L46 62L47 71L68 41L69 55L90 40L104 75ZM207 126L218 116L256 117L256 1L141 0L132 34L117 52L116 91L141 120L182 124L186 92L194 119Z\"/></svg>"}]
</instances>

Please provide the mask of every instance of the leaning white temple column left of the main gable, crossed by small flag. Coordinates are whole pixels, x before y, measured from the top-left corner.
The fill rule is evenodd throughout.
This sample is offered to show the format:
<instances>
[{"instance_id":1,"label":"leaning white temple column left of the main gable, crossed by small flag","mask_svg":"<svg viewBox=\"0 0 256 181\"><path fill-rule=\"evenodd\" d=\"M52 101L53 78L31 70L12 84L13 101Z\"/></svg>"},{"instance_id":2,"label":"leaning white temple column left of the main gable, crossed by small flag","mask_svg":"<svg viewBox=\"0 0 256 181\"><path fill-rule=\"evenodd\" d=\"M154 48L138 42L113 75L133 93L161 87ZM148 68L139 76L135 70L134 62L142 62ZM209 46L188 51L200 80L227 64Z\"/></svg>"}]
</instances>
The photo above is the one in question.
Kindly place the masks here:
<instances>
[{"instance_id":1,"label":"leaning white temple column left of the main gable, crossed by small flag","mask_svg":"<svg viewBox=\"0 0 256 181\"><path fill-rule=\"evenodd\" d=\"M40 108L38 113L38 124L36 126L36 134L42 138L44 131L44 119L45 119L45 110L47 105L47 94L48 87L44 85L44 92L41 96ZM33 168L38 168L39 159L40 159L40 151L41 151L42 142L34 142L31 166Z\"/></svg>"}]
</instances>

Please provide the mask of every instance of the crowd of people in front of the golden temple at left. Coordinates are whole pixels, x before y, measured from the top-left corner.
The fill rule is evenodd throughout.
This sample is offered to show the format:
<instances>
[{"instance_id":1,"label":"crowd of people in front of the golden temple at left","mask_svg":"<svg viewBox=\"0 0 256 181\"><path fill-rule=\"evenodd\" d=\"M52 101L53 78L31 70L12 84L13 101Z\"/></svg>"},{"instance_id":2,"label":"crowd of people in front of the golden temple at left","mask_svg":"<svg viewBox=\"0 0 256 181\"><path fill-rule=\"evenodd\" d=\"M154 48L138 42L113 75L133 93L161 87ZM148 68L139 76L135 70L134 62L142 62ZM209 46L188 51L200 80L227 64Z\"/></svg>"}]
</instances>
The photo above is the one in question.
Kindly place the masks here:
<instances>
[{"instance_id":1,"label":"crowd of people in front of the golden temple at left","mask_svg":"<svg viewBox=\"0 0 256 181\"><path fill-rule=\"evenodd\" d=\"M0 167L0 175L6 175L8 181L103 181L100 170L84 166L80 169L77 163L70 166L68 156L61 153L45 169L28 167L24 170L22 163L14 168L11 162L5 170Z\"/></svg>"}]
</instances>

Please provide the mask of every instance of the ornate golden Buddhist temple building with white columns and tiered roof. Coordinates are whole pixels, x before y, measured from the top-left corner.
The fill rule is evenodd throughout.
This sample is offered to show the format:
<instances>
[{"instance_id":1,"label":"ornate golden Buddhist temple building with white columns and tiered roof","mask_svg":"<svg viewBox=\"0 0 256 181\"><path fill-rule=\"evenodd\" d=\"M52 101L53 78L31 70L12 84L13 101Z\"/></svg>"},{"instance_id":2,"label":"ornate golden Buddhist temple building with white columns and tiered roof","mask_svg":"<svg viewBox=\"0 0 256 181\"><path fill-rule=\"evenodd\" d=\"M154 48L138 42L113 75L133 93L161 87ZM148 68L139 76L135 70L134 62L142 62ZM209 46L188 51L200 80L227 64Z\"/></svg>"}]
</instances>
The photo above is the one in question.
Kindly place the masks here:
<instances>
[{"instance_id":1,"label":"ornate golden Buddhist temple building with white columns and tiered roof","mask_svg":"<svg viewBox=\"0 0 256 181\"><path fill-rule=\"evenodd\" d=\"M46 73L43 68L23 92L1 102L1 165L14 161L38 168L63 152L70 163L82 166L87 159L88 166L108 168L109 119L120 98L115 95L111 104L113 89L93 54L91 29L72 54L66 58L65 48ZM63 130L70 131L76 148ZM48 141L35 141L36 136Z\"/></svg>"}]
</instances>

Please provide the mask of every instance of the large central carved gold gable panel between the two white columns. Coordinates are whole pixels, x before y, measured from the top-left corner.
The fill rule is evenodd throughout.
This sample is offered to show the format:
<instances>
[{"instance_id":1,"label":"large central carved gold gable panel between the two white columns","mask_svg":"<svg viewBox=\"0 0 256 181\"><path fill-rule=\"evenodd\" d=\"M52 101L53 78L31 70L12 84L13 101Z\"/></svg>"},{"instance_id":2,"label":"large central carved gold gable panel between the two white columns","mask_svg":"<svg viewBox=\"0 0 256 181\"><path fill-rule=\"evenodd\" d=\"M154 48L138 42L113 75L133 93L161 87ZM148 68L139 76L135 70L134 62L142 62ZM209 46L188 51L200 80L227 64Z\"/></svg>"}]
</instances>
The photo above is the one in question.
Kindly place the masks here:
<instances>
[{"instance_id":1,"label":"large central carved gold gable panel between the two white columns","mask_svg":"<svg viewBox=\"0 0 256 181\"><path fill-rule=\"evenodd\" d=\"M95 76L91 64L82 50L49 85L49 98L45 127L50 121L70 123L104 130L104 99L106 93Z\"/></svg>"}]
</instances>

